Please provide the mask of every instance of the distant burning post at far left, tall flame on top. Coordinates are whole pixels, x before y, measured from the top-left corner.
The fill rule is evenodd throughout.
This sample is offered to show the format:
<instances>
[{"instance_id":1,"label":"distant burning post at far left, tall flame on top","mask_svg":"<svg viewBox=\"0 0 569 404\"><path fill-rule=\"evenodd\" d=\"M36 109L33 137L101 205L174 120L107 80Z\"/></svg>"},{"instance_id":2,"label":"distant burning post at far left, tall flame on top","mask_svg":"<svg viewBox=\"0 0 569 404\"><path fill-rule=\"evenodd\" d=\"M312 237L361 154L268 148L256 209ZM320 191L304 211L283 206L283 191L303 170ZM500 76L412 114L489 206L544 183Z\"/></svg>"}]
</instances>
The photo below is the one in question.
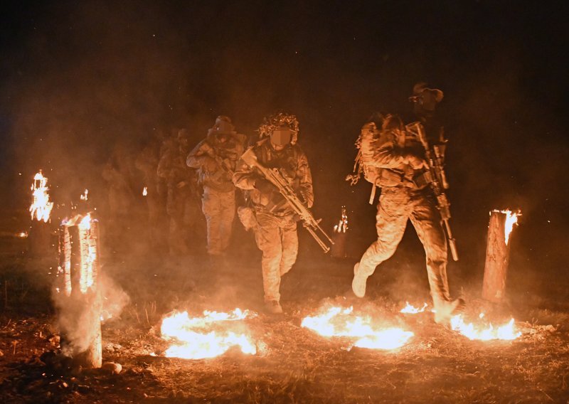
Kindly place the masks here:
<instances>
[{"instance_id":1,"label":"distant burning post at far left, tall flame on top","mask_svg":"<svg viewBox=\"0 0 569 404\"><path fill-rule=\"evenodd\" d=\"M50 214L53 202L49 200L48 179L39 170L31 185L32 202L29 250L32 255L45 256L50 250Z\"/></svg>"}]
</instances>

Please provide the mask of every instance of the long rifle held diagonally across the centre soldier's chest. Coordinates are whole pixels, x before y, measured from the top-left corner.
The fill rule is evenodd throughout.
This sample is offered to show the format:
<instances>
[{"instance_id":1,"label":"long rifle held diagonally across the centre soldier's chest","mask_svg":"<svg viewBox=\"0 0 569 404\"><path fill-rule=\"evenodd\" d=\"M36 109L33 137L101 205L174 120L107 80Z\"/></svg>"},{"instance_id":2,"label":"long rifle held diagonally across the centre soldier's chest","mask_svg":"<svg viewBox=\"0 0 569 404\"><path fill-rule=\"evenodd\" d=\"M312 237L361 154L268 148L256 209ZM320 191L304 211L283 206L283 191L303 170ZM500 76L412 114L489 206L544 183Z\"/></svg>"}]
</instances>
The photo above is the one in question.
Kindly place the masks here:
<instances>
[{"instance_id":1,"label":"long rifle held diagonally across the centre soldier's chest","mask_svg":"<svg viewBox=\"0 0 569 404\"><path fill-rule=\"evenodd\" d=\"M292 186L290 186L289 182L280 174L280 172L277 169L269 169L260 164L252 148L245 151L243 156L241 156L241 159L245 161L245 164L251 168L256 168L258 171L260 171L262 176L264 176L267 181L270 181L270 183L279 190L280 194L287 200L294 213L300 216L301 220L304 223L304 228L308 230L308 233L312 235L314 240L316 240L324 252L329 252L330 248L328 245L326 245L324 240L318 236L317 231L324 235L324 237L331 244L334 244L334 241L332 241L330 236L327 235L326 232L320 227L320 220L316 220L314 216L312 216L312 213L310 213L308 208L304 206L302 201L300 201L297 193L294 192Z\"/></svg>"}]
</instances>

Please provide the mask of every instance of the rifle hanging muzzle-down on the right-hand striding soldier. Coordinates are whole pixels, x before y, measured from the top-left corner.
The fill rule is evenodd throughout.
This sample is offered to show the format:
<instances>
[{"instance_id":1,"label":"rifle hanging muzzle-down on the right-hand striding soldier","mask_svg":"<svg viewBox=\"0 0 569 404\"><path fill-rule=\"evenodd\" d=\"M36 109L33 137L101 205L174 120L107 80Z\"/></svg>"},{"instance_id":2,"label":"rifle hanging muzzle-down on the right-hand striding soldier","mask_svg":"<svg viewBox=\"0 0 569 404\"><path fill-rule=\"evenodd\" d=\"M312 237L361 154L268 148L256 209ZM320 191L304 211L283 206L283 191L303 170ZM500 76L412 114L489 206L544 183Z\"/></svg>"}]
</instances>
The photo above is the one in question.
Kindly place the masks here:
<instances>
[{"instance_id":1,"label":"rifle hanging muzzle-down on the right-hand striding soldier","mask_svg":"<svg viewBox=\"0 0 569 404\"><path fill-rule=\"evenodd\" d=\"M452 237L452 231L450 230L450 202L445 194L445 189L449 188L449 184L442 163L442 151L436 144L429 147L427 136L420 122L414 122L413 125L415 126L422 146L425 148L427 171L424 174L424 179L429 184L435 198L437 198L437 209L440 212L442 222L445 223L445 233L447 235L452 259L458 261L457 240Z\"/></svg>"}]
</instances>

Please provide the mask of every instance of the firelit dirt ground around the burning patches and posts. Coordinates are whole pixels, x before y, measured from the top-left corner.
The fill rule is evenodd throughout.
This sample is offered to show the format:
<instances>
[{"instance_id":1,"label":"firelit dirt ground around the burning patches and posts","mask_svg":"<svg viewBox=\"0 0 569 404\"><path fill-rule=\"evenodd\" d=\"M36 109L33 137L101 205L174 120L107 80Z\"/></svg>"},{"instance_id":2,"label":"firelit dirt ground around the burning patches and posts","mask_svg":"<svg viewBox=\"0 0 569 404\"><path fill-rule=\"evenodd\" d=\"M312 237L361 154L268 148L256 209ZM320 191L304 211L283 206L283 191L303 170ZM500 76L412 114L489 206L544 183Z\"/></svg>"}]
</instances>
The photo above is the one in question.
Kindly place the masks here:
<instances>
[{"instance_id":1,"label":"firelit dirt ground around the burning patches and posts","mask_svg":"<svg viewBox=\"0 0 569 404\"><path fill-rule=\"evenodd\" d=\"M245 233L241 241L249 247L213 265L200 254L174 261L148 251L107 251L102 270L130 300L102 325L103 361L120 363L122 372L48 366L42 354L58 352L59 344L50 299L55 260L31 257L28 240L15 232L5 225L0 238L3 403L569 403L564 280L553 292L517 293L494 306L479 298L477 277L461 282L451 276L467 299L467 316L513 316L523 332L515 341L470 341L435 324L431 313L398 313L405 301L417 306L427 300L425 270L416 264L422 257L398 255L370 279L366 298L356 299L350 292L355 261L321 255L305 236L297 265L283 280L282 317L262 313L260 252ZM409 276L424 282L397 287ZM415 336L393 351L349 349L349 339L324 338L300 326L326 304L375 312ZM245 320L256 355L230 349L211 359L163 356L167 343L159 327L171 310L198 315L235 307L258 313Z\"/></svg>"}]
</instances>

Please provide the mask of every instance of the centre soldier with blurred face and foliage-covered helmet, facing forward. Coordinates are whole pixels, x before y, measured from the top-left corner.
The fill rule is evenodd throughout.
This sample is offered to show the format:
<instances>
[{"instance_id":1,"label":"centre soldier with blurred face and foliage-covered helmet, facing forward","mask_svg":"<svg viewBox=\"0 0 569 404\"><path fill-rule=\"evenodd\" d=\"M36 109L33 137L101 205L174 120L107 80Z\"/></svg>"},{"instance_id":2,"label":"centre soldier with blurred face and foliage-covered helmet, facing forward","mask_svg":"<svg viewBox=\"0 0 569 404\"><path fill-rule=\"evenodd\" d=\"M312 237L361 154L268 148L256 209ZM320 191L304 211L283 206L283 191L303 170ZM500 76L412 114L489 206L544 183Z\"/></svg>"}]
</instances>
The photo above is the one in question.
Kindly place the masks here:
<instances>
[{"instance_id":1,"label":"centre soldier with blurred face and foliage-covered helmet, facing forward","mask_svg":"<svg viewBox=\"0 0 569 404\"><path fill-rule=\"evenodd\" d=\"M297 144L296 117L282 113L267 117L259 132L260 141L252 149L257 161L267 168L279 170L310 208L314 202L312 174L307 156ZM233 182L250 192L255 210L255 240L262 250L265 307L271 314L281 314L280 280L297 260L297 218L277 188L243 160L238 164Z\"/></svg>"}]
</instances>

